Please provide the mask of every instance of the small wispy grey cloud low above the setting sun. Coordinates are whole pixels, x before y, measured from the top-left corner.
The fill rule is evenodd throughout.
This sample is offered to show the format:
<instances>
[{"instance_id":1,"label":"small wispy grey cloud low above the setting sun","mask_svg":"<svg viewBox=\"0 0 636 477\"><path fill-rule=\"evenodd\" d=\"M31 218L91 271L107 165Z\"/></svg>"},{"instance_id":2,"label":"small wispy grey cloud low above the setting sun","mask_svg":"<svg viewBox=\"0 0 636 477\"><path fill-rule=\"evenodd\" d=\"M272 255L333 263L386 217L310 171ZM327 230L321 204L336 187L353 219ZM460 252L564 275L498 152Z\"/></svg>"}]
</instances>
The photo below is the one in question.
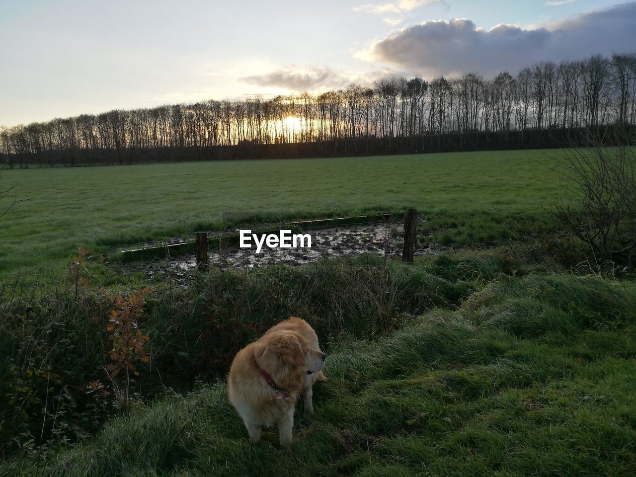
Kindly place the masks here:
<instances>
[{"instance_id":1,"label":"small wispy grey cloud low above the setting sun","mask_svg":"<svg viewBox=\"0 0 636 477\"><path fill-rule=\"evenodd\" d=\"M251 85L284 88L296 92L339 88L349 82L347 76L326 66L305 69L288 67L270 73L246 76L240 80Z\"/></svg>"}]
</instances>

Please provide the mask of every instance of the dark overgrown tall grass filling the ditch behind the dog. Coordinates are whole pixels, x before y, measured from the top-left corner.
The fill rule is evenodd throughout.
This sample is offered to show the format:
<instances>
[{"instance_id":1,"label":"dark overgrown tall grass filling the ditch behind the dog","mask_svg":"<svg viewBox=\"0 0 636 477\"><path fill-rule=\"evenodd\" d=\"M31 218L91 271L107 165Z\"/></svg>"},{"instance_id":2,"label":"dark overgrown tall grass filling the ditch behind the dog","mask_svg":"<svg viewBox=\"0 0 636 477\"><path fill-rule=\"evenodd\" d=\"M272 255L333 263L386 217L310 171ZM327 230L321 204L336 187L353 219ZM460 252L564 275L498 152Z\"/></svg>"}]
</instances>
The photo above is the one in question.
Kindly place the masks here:
<instances>
[{"instance_id":1,"label":"dark overgrown tall grass filling the ditch behind the dog","mask_svg":"<svg viewBox=\"0 0 636 477\"><path fill-rule=\"evenodd\" d=\"M97 286L92 282L92 286ZM435 307L452 308L472 290L422 262L406 266L377 256L325 260L303 268L212 270L190 286L146 298L139 326L150 340L132 391L144 398L167 387L188 391L196 380L224 378L234 354L276 322L300 315L321 342L374 339ZM8 284L0 297L0 442L4 452L50 439L81 439L113 412L86 394L111 363L108 293L73 284Z\"/></svg>"}]
</instances>

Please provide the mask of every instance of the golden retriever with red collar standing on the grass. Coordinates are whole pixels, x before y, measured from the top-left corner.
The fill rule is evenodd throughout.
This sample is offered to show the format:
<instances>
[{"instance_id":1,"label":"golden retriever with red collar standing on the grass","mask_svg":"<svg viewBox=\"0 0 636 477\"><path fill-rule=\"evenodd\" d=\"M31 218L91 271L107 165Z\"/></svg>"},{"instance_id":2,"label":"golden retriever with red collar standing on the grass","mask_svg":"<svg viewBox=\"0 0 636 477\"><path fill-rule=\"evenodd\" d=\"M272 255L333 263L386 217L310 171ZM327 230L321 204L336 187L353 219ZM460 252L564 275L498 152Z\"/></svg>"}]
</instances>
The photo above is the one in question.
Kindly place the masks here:
<instances>
[{"instance_id":1,"label":"golden retriever with red collar standing on the grass","mask_svg":"<svg viewBox=\"0 0 636 477\"><path fill-rule=\"evenodd\" d=\"M237 353L228 396L252 442L261 439L263 425L277 424L280 446L291 448L296 401L304 391L305 415L314 411L312 386L326 380L321 371L325 358L314 329L296 317L268 329Z\"/></svg>"}]
</instances>

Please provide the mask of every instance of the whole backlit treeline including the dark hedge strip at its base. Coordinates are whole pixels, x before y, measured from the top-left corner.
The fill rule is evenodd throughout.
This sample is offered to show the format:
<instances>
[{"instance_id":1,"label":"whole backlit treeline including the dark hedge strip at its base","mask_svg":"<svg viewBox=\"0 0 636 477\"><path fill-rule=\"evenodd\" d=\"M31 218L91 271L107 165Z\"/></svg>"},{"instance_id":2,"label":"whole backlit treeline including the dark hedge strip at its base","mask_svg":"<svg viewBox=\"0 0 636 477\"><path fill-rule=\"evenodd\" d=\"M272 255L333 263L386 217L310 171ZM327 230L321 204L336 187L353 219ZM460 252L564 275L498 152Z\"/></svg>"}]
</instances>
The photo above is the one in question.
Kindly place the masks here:
<instances>
[{"instance_id":1,"label":"whole backlit treeline including the dark hedge strip at its base","mask_svg":"<svg viewBox=\"0 0 636 477\"><path fill-rule=\"evenodd\" d=\"M318 95L115 109L0 130L9 167L558 147L636 122L636 53L516 76L390 78Z\"/></svg>"}]
</instances>

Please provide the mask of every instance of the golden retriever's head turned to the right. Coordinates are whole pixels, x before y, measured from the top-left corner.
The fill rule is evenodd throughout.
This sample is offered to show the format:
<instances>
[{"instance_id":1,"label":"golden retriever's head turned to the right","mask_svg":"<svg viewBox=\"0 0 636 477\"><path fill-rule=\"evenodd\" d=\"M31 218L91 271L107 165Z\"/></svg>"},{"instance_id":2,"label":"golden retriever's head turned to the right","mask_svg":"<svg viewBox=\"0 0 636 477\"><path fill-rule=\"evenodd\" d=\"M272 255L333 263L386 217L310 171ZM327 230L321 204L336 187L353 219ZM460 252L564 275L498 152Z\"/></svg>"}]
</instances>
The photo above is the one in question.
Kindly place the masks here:
<instances>
[{"instance_id":1,"label":"golden retriever's head turned to the right","mask_svg":"<svg viewBox=\"0 0 636 477\"><path fill-rule=\"evenodd\" d=\"M321 350L311 349L300 333L274 333L264 336L254 350L256 363L265 370L279 370L291 365L303 373L322 370L326 355Z\"/></svg>"}]
</instances>

